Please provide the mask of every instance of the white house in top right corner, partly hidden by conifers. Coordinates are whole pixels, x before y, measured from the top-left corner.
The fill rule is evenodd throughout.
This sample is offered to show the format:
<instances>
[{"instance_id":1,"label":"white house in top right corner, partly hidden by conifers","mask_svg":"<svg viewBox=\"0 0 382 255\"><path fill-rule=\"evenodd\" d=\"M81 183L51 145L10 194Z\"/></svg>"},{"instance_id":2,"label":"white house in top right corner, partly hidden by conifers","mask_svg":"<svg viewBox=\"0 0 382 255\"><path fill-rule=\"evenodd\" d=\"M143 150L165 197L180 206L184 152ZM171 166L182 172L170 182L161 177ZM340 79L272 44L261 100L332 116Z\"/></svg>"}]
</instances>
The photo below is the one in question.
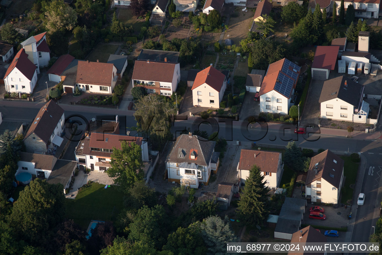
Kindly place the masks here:
<instances>
[{"instance_id":1,"label":"white house in top right corner, partly hidden by conifers","mask_svg":"<svg viewBox=\"0 0 382 255\"><path fill-rule=\"evenodd\" d=\"M337 4L337 15L340 13L341 1L333 1ZM378 18L380 0L353 0L345 1L345 11L349 5L354 6L356 18Z\"/></svg>"}]
</instances>

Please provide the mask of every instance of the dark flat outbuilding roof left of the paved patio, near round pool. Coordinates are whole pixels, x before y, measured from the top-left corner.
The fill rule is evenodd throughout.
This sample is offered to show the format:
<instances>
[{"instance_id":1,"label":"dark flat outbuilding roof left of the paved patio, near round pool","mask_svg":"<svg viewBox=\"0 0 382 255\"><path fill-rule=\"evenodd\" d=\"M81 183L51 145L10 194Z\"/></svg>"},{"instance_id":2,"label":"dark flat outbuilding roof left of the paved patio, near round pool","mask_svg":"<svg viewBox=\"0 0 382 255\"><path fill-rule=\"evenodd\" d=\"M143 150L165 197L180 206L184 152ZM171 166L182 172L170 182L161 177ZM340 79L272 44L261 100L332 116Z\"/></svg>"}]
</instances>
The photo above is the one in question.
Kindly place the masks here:
<instances>
[{"instance_id":1,"label":"dark flat outbuilding roof left of the paved patio, near round pool","mask_svg":"<svg viewBox=\"0 0 382 255\"><path fill-rule=\"evenodd\" d=\"M77 166L77 161L58 159L49 175L47 182L49 184L65 185L70 181L74 168Z\"/></svg>"}]
</instances>

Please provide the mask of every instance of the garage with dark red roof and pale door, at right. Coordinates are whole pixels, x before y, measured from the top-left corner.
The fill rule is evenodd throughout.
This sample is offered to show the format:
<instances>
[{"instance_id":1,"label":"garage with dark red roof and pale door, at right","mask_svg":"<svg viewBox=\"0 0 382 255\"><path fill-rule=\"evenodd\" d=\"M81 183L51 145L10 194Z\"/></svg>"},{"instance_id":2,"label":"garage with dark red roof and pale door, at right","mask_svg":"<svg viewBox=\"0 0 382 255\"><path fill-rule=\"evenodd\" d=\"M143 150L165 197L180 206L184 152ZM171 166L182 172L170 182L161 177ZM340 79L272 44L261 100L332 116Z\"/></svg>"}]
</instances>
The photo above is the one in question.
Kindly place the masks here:
<instances>
[{"instance_id":1,"label":"garage with dark red roof and pale door, at right","mask_svg":"<svg viewBox=\"0 0 382 255\"><path fill-rule=\"evenodd\" d=\"M327 80L337 62L339 46L317 46L312 63L312 79Z\"/></svg>"}]
</instances>

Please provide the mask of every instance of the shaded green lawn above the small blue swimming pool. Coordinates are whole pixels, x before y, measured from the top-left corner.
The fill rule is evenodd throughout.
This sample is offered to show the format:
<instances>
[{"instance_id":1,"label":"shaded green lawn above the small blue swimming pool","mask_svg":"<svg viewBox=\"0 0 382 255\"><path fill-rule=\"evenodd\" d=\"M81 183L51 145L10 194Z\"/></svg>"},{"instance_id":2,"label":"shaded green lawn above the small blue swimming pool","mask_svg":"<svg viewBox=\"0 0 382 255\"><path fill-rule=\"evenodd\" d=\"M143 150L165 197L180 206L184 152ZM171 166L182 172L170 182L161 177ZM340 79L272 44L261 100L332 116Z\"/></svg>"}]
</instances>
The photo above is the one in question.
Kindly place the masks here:
<instances>
[{"instance_id":1,"label":"shaded green lawn above the small blue swimming pool","mask_svg":"<svg viewBox=\"0 0 382 255\"><path fill-rule=\"evenodd\" d=\"M105 189L105 185L94 182L75 199L65 200L66 217L86 230L91 220L112 220L123 207L123 196L116 186Z\"/></svg>"}]
</instances>

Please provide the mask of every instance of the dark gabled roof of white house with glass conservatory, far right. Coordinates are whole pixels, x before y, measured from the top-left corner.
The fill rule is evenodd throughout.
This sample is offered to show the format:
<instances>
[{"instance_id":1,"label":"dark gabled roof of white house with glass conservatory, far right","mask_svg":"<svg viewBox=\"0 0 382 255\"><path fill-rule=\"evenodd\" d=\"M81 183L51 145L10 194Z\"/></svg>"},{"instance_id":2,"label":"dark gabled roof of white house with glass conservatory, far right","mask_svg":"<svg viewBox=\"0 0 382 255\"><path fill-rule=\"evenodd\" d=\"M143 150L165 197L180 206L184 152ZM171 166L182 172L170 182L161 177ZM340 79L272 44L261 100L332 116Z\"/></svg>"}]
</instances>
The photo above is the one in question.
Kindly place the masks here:
<instances>
[{"instance_id":1,"label":"dark gabled roof of white house with glass conservatory, far right","mask_svg":"<svg viewBox=\"0 0 382 255\"><path fill-rule=\"evenodd\" d=\"M347 86L345 86L345 81ZM327 81L324 81L319 103L328 101L333 98L339 98L348 102L352 106L358 107L360 99L362 98L363 85L352 81L345 76L339 76Z\"/></svg>"}]
</instances>

